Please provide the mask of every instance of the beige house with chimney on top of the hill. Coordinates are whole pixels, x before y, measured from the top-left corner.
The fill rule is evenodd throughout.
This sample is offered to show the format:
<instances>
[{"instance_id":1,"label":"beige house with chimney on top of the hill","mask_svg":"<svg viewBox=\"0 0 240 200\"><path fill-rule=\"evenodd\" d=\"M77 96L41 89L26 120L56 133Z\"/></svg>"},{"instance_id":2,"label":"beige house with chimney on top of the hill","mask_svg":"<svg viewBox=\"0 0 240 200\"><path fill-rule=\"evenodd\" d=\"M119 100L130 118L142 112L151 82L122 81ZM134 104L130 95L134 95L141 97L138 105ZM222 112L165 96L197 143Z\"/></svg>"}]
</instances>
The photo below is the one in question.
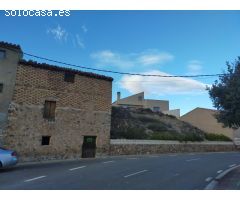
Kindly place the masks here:
<instances>
[{"instance_id":1,"label":"beige house with chimney on top of the hill","mask_svg":"<svg viewBox=\"0 0 240 200\"><path fill-rule=\"evenodd\" d=\"M154 112L162 112L164 114L180 117L180 109L169 110L169 101L145 99L144 92L134 94L132 96L122 98L121 93L117 93L117 101L113 102L113 106L149 108Z\"/></svg>"}]
</instances>

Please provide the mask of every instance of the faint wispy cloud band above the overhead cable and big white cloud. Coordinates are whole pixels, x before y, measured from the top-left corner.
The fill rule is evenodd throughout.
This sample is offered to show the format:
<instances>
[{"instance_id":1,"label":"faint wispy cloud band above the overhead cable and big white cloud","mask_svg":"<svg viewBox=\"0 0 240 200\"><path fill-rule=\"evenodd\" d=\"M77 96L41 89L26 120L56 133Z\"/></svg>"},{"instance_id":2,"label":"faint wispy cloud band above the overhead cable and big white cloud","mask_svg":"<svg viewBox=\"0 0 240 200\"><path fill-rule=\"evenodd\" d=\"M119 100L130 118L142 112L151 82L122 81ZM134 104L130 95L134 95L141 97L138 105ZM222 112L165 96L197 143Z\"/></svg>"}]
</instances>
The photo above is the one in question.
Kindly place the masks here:
<instances>
[{"instance_id":1,"label":"faint wispy cloud band above the overhead cable and big white cloud","mask_svg":"<svg viewBox=\"0 0 240 200\"><path fill-rule=\"evenodd\" d=\"M91 58L99 66L111 66L117 68L141 67L161 65L173 60L174 56L157 50L147 50L134 54L121 54L111 50L98 51L91 54Z\"/></svg>"}]
</instances>

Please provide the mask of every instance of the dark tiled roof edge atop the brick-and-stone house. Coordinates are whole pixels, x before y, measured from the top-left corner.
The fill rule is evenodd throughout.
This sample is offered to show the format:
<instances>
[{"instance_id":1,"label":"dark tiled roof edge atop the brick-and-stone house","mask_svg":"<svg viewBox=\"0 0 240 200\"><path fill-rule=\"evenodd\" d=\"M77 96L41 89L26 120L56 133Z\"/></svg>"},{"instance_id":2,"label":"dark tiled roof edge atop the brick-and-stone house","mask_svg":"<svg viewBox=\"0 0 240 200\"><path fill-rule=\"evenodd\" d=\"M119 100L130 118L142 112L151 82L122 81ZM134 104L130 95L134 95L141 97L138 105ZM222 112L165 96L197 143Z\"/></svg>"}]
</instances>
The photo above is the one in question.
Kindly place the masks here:
<instances>
[{"instance_id":1,"label":"dark tiled roof edge atop the brick-and-stone house","mask_svg":"<svg viewBox=\"0 0 240 200\"><path fill-rule=\"evenodd\" d=\"M112 77L100 75L100 74L95 74L92 72L83 72L77 69L73 68L66 68L66 67L60 67L56 65L49 65L47 63L38 63L35 61L26 61L26 60L20 60L19 61L20 65L26 65L26 66L31 66L35 68L40 68L40 69L47 69L47 70L52 70L52 71L61 71L61 72L69 72L69 73L74 73L74 74L79 74L81 76L87 76L91 78L96 78L96 79L102 79L106 81L113 81Z\"/></svg>"}]
</instances>

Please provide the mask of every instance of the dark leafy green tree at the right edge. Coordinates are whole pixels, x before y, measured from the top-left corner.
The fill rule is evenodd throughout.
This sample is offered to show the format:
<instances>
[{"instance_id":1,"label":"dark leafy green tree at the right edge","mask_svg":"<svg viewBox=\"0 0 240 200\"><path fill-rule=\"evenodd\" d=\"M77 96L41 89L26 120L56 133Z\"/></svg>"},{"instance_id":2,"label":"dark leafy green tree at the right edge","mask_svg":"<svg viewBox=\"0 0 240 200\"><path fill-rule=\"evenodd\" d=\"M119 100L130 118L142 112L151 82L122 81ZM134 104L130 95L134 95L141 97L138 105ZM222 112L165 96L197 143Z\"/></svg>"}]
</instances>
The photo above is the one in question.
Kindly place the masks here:
<instances>
[{"instance_id":1,"label":"dark leafy green tree at the right edge","mask_svg":"<svg viewBox=\"0 0 240 200\"><path fill-rule=\"evenodd\" d=\"M213 105L219 111L216 118L224 126L240 127L240 57L234 63L227 62L227 73L219 76L212 87L207 88Z\"/></svg>"}]
</instances>

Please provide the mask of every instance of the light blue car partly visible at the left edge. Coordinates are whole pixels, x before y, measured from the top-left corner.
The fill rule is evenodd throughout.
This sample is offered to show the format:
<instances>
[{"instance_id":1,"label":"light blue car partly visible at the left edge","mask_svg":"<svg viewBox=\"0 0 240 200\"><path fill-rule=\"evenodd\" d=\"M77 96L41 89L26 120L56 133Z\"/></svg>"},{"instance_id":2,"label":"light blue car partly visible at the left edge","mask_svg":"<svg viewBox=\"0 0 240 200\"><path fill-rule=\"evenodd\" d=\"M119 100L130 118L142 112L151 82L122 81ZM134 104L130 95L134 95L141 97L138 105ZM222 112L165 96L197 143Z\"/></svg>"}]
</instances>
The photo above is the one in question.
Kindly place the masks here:
<instances>
[{"instance_id":1,"label":"light blue car partly visible at the left edge","mask_svg":"<svg viewBox=\"0 0 240 200\"><path fill-rule=\"evenodd\" d=\"M0 147L0 168L16 165L18 162L17 153Z\"/></svg>"}]
</instances>

